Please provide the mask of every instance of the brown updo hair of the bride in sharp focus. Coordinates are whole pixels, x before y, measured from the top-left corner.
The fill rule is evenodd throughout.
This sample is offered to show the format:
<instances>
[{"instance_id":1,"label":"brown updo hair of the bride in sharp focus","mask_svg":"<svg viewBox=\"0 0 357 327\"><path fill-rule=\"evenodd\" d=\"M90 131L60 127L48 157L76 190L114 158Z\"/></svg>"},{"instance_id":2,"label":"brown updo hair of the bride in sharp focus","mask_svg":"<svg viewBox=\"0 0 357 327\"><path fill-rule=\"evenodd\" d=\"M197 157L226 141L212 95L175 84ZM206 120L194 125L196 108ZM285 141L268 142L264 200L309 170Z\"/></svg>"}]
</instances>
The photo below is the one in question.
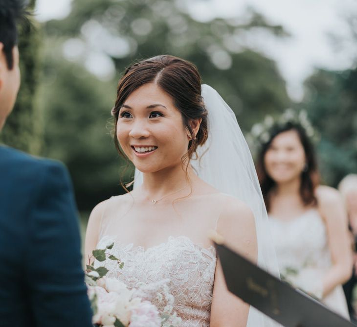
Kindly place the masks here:
<instances>
[{"instance_id":1,"label":"brown updo hair of the bride in sharp focus","mask_svg":"<svg viewBox=\"0 0 357 327\"><path fill-rule=\"evenodd\" d=\"M155 83L168 93L175 107L182 116L183 125L191 134L187 154L182 158L188 163L197 147L207 140L207 110L201 97L201 76L196 66L186 60L171 55L159 55L150 59L139 61L125 70L119 80L115 106L112 109L114 117L114 143L117 151L124 158L126 156L120 149L116 138L116 123L120 108L128 96L139 87ZM201 125L197 135L194 134L190 121L201 118Z\"/></svg>"}]
</instances>

